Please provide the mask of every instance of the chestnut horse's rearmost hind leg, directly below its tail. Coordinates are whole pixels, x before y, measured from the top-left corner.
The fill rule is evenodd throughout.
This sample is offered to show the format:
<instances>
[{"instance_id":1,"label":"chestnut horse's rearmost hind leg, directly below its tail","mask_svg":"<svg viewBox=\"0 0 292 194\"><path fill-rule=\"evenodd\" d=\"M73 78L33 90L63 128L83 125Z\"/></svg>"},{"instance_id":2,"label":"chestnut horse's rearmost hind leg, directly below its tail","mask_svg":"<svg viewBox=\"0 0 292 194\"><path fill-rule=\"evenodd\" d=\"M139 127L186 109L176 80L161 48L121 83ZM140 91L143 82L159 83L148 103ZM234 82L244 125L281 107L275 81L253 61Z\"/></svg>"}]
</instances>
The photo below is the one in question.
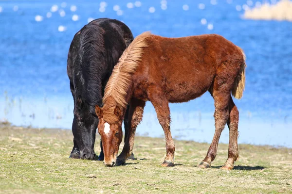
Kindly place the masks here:
<instances>
[{"instance_id":1,"label":"chestnut horse's rearmost hind leg, directly below its tail","mask_svg":"<svg viewBox=\"0 0 292 194\"><path fill-rule=\"evenodd\" d=\"M232 98L229 100L229 119L227 120L227 125L229 127L229 148L228 148L228 159L222 166L222 169L233 169L233 164L238 158L238 118L239 113L236 105L234 104Z\"/></svg>"}]
</instances>

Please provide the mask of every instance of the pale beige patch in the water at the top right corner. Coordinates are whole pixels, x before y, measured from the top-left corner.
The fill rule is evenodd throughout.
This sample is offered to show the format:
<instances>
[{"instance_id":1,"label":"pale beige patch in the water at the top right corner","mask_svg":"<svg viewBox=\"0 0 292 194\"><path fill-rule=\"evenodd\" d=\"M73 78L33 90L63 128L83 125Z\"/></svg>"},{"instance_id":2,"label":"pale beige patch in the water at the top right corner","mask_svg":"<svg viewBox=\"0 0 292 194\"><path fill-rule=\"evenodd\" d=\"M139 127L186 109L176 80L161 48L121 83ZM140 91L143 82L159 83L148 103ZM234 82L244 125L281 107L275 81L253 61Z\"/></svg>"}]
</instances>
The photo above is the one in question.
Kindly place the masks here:
<instances>
[{"instance_id":1,"label":"pale beige patch in the water at the top right corner","mask_svg":"<svg viewBox=\"0 0 292 194\"><path fill-rule=\"evenodd\" d=\"M274 5L265 3L253 9L245 9L244 18L255 20L287 20L292 21L292 1L281 0Z\"/></svg>"}]
</instances>

